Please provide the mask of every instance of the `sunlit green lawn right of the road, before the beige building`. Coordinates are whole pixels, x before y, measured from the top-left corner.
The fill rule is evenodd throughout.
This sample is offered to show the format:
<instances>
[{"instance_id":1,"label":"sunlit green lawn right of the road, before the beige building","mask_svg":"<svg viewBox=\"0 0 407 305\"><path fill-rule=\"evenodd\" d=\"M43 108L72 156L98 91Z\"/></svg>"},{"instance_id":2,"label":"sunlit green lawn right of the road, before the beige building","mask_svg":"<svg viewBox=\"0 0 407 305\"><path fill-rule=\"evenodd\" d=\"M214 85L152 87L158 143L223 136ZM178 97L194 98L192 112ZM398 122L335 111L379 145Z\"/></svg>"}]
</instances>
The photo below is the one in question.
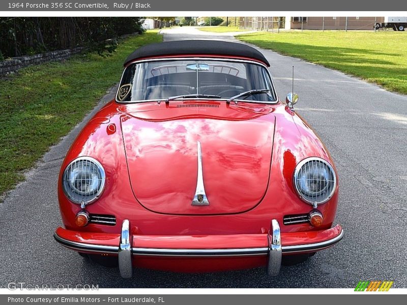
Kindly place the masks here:
<instances>
[{"instance_id":1,"label":"sunlit green lawn right of the road, before the beige building","mask_svg":"<svg viewBox=\"0 0 407 305\"><path fill-rule=\"evenodd\" d=\"M237 38L407 94L405 32L258 32Z\"/></svg>"}]
</instances>

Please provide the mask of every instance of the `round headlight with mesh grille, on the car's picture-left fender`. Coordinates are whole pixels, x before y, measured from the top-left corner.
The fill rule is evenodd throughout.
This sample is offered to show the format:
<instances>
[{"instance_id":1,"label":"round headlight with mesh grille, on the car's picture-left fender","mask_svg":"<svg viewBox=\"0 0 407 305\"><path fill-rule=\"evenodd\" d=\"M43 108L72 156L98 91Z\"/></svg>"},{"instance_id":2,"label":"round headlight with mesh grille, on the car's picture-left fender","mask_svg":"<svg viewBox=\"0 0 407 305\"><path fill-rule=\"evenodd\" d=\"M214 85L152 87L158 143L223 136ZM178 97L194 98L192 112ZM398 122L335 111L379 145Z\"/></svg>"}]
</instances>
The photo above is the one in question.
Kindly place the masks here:
<instances>
[{"instance_id":1,"label":"round headlight with mesh grille, on the car's picture-left fender","mask_svg":"<svg viewBox=\"0 0 407 305\"><path fill-rule=\"evenodd\" d=\"M105 178L105 171L97 160L79 157L65 169L62 186L72 202L86 205L100 197L105 186Z\"/></svg>"}]
</instances>

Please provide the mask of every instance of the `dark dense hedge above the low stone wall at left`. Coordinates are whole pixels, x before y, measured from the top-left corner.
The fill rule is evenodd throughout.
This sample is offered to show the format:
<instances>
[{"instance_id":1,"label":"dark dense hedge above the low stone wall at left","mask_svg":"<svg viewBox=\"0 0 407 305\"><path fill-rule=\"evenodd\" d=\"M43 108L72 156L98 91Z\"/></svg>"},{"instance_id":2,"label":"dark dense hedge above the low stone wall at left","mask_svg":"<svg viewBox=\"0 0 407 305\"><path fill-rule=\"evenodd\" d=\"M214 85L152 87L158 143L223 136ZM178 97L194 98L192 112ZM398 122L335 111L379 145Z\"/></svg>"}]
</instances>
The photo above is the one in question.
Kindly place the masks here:
<instances>
[{"instance_id":1,"label":"dark dense hedge above the low stone wall at left","mask_svg":"<svg viewBox=\"0 0 407 305\"><path fill-rule=\"evenodd\" d=\"M85 47L112 52L115 38L142 33L140 17L0 17L0 58Z\"/></svg>"}]
</instances>

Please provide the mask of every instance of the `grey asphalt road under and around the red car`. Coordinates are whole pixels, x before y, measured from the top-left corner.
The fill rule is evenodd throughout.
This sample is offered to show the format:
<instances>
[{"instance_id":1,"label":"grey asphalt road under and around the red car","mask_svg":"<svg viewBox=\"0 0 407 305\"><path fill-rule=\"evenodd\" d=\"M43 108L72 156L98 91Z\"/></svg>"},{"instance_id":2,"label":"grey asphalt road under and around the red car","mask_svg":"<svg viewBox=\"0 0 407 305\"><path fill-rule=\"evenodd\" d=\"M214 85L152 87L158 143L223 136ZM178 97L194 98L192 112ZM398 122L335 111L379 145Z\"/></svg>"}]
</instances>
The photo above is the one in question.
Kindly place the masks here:
<instances>
[{"instance_id":1,"label":"grey asphalt road under and around the red car","mask_svg":"<svg viewBox=\"0 0 407 305\"><path fill-rule=\"evenodd\" d=\"M233 40L230 34L188 27L164 31L164 35L165 40ZM283 266L277 278L267 277L262 268L200 275L136 269L133 279L123 280L118 269L83 260L52 237L61 225L57 175L82 123L52 147L0 204L0 286L25 282L101 288L343 288L355 287L360 280L392 280L394 287L406 288L407 97L299 59L261 51L272 64L280 98L290 91L295 66L295 91L300 95L296 109L321 136L336 163L340 177L336 222L345 229L341 242L305 263Z\"/></svg>"}]
</instances>

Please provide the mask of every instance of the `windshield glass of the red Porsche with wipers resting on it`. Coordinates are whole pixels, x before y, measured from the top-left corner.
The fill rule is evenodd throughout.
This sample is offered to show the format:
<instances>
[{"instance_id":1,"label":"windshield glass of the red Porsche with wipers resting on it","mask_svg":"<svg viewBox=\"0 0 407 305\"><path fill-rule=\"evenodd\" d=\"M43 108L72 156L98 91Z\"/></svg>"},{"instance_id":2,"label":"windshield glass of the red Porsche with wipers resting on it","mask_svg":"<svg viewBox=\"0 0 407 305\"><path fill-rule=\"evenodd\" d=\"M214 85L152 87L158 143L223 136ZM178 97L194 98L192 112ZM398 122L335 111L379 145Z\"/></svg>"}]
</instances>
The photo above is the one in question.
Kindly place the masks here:
<instances>
[{"instance_id":1,"label":"windshield glass of the red Porsche with wipers resting on it","mask_svg":"<svg viewBox=\"0 0 407 305\"><path fill-rule=\"evenodd\" d=\"M134 63L125 69L117 100L165 100L184 95L227 100L259 89L265 92L244 95L239 100L276 101L268 71L259 64L203 59L153 60Z\"/></svg>"}]
</instances>

